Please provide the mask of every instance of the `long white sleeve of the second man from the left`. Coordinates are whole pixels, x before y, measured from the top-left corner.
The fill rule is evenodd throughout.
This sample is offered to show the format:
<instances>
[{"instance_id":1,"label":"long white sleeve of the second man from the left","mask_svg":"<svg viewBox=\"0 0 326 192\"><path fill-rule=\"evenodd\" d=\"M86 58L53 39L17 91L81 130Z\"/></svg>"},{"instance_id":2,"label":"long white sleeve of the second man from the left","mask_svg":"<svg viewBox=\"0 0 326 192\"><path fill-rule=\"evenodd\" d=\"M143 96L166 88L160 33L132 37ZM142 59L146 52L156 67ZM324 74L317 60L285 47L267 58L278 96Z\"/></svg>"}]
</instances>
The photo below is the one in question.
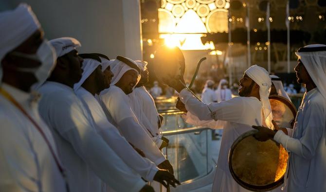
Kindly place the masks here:
<instances>
[{"instance_id":1,"label":"long white sleeve of the second man from the left","mask_svg":"<svg viewBox=\"0 0 326 192\"><path fill-rule=\"evenodd\" d=\"M140 175L135 174L96 133L90 117L83 113L81 103L78 105L69 100L52 103L49 115L56 130L102 181L115 191L138 192L143 188L145 182Z\"/></svg>"}]
</instances>

